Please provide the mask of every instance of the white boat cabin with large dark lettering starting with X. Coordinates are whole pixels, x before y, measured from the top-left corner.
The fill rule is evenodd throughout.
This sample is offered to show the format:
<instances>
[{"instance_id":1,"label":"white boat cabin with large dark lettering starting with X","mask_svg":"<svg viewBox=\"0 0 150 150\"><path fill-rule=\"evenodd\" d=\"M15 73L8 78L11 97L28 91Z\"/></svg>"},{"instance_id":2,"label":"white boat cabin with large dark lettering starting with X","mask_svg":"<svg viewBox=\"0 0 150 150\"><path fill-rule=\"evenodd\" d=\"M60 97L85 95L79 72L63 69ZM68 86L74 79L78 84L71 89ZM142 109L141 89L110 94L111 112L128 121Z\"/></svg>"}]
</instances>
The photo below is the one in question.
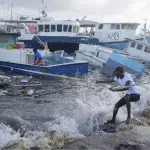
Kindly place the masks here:
<instances>
[{"instance_id":1,"label":"white boat cabin with large dark lettering starting with X","mask_svg":"<svg viewBox=\"0 0 150 150\"><path fill-rule=\"evenodd\" d=\"M100 42L122 42L125 38L133 38L139 23L100 23L95 30L95 38Z\"/></svg>"}]
</instances>

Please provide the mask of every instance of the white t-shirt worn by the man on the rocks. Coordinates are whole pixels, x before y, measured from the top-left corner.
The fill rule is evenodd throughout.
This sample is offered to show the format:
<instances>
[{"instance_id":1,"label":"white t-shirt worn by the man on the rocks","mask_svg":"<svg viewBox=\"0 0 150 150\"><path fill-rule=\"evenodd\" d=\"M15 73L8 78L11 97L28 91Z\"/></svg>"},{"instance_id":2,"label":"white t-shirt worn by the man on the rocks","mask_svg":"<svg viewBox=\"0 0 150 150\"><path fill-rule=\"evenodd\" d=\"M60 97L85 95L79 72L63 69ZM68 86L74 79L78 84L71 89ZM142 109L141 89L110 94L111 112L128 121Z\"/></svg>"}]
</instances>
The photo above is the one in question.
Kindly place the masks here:
<instances>
[{"instance_id":1,"label":"white t-shirt worn by the man on the rocks","mask_svg":"<svg viewBox=\"0 0 150 150\"><path fill-rule=\"evenodd\" d=\"M130 87L129 90L127 91L127 94L140 94L138 89L135 86L135 82L133 81L131 75L129 74L124 74L124 77L122 79L118 79L117 77L114 78L114 81L120 84L121 87L124 87L126 85L127 81L130 81Z\"/></svg>"}]
</instances>

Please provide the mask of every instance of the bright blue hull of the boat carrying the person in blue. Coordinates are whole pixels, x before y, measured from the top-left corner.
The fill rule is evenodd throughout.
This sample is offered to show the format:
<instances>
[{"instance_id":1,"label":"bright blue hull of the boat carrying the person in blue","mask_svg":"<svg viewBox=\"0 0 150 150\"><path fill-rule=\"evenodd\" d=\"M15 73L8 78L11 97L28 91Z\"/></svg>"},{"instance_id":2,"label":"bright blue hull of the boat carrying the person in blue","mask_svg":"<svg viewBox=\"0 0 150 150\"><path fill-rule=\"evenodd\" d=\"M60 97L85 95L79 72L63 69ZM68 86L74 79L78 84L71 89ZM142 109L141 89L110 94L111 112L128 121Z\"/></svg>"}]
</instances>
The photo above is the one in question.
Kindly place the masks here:
<instances>
[{"instance_id":1,"label":"bright blue hull of the boat carrying the person in blue","mask_svg":"<svg viewBox=\"0 0 150 150\"><path fill-rule=\"evenodd\" d=\"M81 76L88 73L87 62L68 63L53 66L34 66L0 61L0 68L5 71L32 75L46 80L56 79L57 75Z\"/></svg>"}]
</instances>

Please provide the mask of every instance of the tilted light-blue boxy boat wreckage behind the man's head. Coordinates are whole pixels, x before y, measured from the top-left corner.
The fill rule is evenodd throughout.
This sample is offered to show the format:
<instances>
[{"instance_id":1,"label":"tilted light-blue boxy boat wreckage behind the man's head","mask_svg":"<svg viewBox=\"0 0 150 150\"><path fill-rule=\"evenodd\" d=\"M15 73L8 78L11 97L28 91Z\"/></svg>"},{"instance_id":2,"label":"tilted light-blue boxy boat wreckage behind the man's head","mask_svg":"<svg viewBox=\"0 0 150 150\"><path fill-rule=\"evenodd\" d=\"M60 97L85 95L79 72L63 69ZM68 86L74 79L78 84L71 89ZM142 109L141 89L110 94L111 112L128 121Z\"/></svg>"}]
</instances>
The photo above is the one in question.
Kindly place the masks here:
<instances>
[{"instance_id":1,"label":"tilted light-blue boxy boat wreckage behind the man's head","mask_svg":"<svg viewBox=\"0 0 150 150\"><path fill-rule=\"evenodd\" d=\"M101 69L101 73L112 76L113 71L117 66L124 67L125 72L134 74L135 76L139 76L144 72L144 64L113 53L106 62L105 66Z\"/></svg>"}]
</instances>

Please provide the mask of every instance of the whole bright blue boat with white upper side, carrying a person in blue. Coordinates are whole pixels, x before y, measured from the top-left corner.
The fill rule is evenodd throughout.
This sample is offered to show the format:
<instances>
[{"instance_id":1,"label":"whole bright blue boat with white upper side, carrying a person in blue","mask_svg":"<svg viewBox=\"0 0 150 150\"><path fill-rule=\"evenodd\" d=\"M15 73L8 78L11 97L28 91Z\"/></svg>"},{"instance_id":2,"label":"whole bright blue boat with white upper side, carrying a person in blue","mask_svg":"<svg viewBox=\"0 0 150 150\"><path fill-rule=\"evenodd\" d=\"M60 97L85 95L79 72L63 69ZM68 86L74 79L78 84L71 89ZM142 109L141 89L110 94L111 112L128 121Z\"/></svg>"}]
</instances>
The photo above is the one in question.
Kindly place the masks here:
<instances>
[{"instance_id":1,"label":"whole bright blue boat with white upper side, carrying a person in blue","mask_svg":"<svg viewBox=\"0 0 150 150\"><path fill-rule=\"evenodd\" d=\"M34 64L34 55L28 50L0 49L0 68L12 73L32 75L41 79L70 78L88 72L88 62L74 61L63 57L63 51L41 51L45 65ZM9 55L8 55L9 54Z\"/></svg>"}]
</instances>

